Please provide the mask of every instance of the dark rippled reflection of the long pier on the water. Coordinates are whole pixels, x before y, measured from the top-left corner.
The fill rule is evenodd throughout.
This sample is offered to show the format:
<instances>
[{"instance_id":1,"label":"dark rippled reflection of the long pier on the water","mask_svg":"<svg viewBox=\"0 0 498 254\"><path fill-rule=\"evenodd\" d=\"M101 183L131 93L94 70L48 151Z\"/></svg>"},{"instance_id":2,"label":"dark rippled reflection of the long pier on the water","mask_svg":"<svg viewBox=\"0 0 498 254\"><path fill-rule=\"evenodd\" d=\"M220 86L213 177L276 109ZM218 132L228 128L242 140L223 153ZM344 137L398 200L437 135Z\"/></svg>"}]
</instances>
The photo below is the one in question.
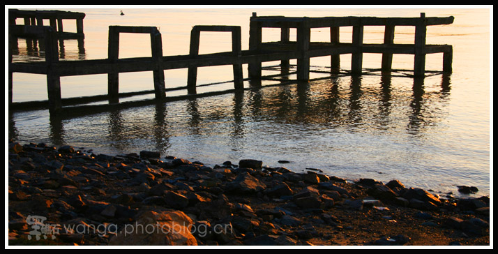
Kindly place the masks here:
<instances>
[{"instance_id":1,"label":"dark rippled reflection of the long pier on the water","mask_svg":"<svg viewBox=\"0 0 498 254\"><path fill-rule=\"evenodd\" d=\"M228 93L218 97L223 99L223 103L219 100L211 101L215 97L190 98L184 104L186 108L174 108L174 112L171 112L171 108L168 110L169 104L156 103L155 107L152 105L142 108L146 111L141 114L144 121L133 119L133 124L127 120L128 110L107 110L107 113L104 113L107 117L98 116L99 121L107 121L107 129L101 130L102 136L93 139L107 139L106 144L121 150L133 150L136 144L133 144L132 140L149 139L149 142L153 143L150 149L166 151L171 147L170 138L176 135L176 131L185 132L183 134L188 137L222 131L231 140L234 149L238 150L238 146L243 146L247 133L251 128L255 128L254 124L262 121L280 123L271 125L275 128L273 130L266 129L274 133L282 132L277 128L287 124L302 130L346 128L352 132L371 131L369 128L360 128L367 124L382 130L396 128L404 129L411 135L423 135L426 126L444 118L441 109L449 96L449 75L442 75L439 91L425 91L423 78L412 79L412 94L407 94L406 91L400 92L404 94L397 94L399 88L392 89L391 75L379 77L379 86L374 87L365 87L362 79L363 77L358 76L331 77L329 80L318 80L312 84L299 82L294 86L236 91L230 93L233 94L231 100L227 100L230 97ZM147 111L149 109L150 111ZM181 121L185 121L181 124L181 130L176 126L179 123L174 120L175 112L186 113L185 117L181 118ZM153 121L150 121L152 115ZM78 117L82 115L51 114L50 142L55 145L65 144L67 140L64 137L73 135L66 133L63 123L68 120L78 121ZM137 115L134 118L136 117ZM212 128L213 123L223 123L222 130L218 129L220 126ZM16 133L15 122L10 113L9 135L13 137L9 138L16 139ZM193 138L192 142L199 141ZM195 146L192 149L195 149Z\"/></svg>"}]
</instances>

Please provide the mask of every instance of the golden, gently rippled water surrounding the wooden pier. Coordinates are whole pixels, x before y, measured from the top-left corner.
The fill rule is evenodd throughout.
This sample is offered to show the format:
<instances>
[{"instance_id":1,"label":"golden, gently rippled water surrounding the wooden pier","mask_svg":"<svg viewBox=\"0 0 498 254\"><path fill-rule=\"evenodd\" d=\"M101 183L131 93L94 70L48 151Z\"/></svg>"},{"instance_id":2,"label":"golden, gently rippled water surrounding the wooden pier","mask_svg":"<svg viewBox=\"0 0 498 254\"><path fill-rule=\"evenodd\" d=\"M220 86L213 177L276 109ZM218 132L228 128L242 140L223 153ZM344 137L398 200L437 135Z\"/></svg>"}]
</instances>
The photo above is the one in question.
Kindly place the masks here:
<instances>
[{"instance_id":1,"label":"golden, gently rippled water surrounding the wooden pier","mask_svg":"<svg viewBox=\"0 0 498 254\"><path fill-rule=\"evenodd\" d=\"M161 151L208 165L243 158L296 172L307 167L326 174L359 179L398 179L420 187L459 195L456 186L476 186L477 195L490 195L490 10L430 9L62 9L86 13L84 52L77 40L65 40L63 59L107 58L109 25L154 26L163 36L165 55L188 54L190 29L197 24L238 25L242 48L248 49L249 18L285 16L447 17L450 25L428 27L428 44L453 45L453 73L425 77L363 75L331 77L308 84L266 86L242 93L179 100L163 105L88 114L56 121L47 110L9 113L8 137L19 142L45 142L93 149L98 154ZM47 22L48 23L48 22ZM17 24L22 24L18 20ZM75 31L73 22L63 24ZM280 38L280 30L264 29L263 40ZM329 41L328 29L312 29L312 40ZM365 43L381 43L383 27L365 27ZM413 43L414 28L396 27L395 43ZM352 29L341 30L351 41ZM291 30L291 39L295 30ZM229 33L202 33L200 53L229 51ZM43 52L29 50L18 40L13 61L38 61ZM119 57L150 57L144 34L121 34ZM363 68L379 68L379 54L364 54ZM291 61L291 63L293 63ZM295 61L294 61L295 63ZM271 66L278 62L267 63ZM311 59L313 66L329 66L330 58ZM349 69L350 55L341 57ZM413 56L395 55L393 68L412 69ZM319 67L314 67L320 69ZM442 54L430 54L427 70L442 70ZM247 77L247 68L243 68ZM271 70L264 74L271 74ZM186 85L187 70L166 70L167 87ZM311 77L326 77L312 73ZM295 78L291 75L289 78ZM43 75L14 73L13 100L46 100ZM197 84L232 80L232 67L199 68ZM249 87L249 82L245 83ZM266 86L266 87L265 87ZM418 89L421 87L421 89ZM232 89L232 82L199 87L198 93ZM151 73L120 74L120 92L153 89ZM107 94L107 75L61 77L63 98ZM167 96L186 94L171 91ZM138 100L153 95L129 98ZM121 100L125 101L125 100ZM7 135L7 133L6 133ZM279 164L278 160L289 160ZM491 163L490 163L491 162Z\"/></svg>"}]
</instances>

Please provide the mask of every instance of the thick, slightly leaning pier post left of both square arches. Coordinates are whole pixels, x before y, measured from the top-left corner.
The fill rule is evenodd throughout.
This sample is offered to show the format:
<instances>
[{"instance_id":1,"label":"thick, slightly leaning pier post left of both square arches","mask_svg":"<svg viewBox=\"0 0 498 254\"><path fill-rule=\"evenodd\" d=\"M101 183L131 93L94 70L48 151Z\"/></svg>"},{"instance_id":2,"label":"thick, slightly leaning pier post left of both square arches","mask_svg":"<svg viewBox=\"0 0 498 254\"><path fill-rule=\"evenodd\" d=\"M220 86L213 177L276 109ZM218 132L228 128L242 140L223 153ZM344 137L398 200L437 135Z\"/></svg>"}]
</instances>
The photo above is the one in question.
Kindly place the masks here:
<instances>
[{"instance_id":1,"label":"thick, slightly leaning pier post left of both square arches","mask_svg":"<svg viewBox=\"0 0 498 254\"><path fill-rule=\"evenodd\" d=\"M45 62L47 63L47 93L49 111L58 112L62 109L61 76L54 66L59 63L59 46L56 31L53 27L45 28Z\"/></svg>"}]
</instances>

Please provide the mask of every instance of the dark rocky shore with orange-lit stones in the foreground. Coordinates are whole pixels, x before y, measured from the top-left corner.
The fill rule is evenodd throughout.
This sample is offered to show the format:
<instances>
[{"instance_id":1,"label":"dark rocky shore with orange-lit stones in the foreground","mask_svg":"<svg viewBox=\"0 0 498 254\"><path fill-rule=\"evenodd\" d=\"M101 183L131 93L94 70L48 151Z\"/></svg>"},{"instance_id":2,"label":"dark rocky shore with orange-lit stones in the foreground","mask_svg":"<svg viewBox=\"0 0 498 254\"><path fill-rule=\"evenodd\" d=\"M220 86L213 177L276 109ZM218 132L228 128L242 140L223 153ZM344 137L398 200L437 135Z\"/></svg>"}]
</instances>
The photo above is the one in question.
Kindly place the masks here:
<instances>
[{"instance_id":1,"label":"dark rocky shore with orange-lit stones in the foreground","mask_svg":"<svg viewBox=\"0 0 498 254\"><path fill-rule=\"evenodd\" d=\"M490 197L8 141L8 244L490 246Z\"/></svg>"}]
</instances>

